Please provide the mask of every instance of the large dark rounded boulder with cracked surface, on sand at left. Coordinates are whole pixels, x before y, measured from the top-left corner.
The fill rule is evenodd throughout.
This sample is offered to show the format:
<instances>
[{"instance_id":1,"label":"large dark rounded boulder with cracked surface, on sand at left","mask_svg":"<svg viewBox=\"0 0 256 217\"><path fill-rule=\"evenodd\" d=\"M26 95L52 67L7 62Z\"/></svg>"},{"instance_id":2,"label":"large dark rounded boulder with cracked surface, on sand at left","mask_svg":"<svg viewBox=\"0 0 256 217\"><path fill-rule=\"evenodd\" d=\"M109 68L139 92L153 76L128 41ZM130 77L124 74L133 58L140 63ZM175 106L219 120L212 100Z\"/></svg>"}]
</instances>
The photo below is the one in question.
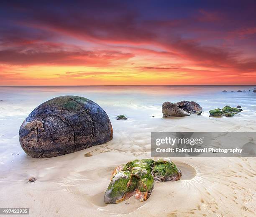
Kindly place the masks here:
<instances>
[{"instance_id":1,"label":"large dark rounded boulder with cracked surface, on sand at left","mask_svg":"<svg viewBox=\"0 0 256 217\"><path fill-rule=\"evenodd\" d=\"M84 97L61 96L36 107L19 130L20 145L33 158L49 158L110 141L106 112Z\"/></svg>"}]
</instances>

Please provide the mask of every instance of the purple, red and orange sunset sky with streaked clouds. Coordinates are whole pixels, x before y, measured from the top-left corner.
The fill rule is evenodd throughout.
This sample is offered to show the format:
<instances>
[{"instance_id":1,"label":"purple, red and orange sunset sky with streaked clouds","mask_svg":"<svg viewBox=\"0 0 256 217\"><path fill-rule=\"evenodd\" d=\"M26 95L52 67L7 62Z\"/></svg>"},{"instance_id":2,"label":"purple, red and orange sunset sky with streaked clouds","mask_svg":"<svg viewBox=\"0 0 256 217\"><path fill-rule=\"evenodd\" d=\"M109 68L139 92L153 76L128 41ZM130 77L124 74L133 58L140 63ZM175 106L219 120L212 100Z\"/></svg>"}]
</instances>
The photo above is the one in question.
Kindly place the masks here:
<instances>
[{"instance_id":1,"label":"purple, red and orange sunset sky with streaked clouds","mask_svg":"<svg viewBox=\"0 0 256 217\"><path fill-rule=\"evenodd\" d=\"M1 3L0 85L256 84L253 0L53 2Z\"/></svg>"}]
</instances>

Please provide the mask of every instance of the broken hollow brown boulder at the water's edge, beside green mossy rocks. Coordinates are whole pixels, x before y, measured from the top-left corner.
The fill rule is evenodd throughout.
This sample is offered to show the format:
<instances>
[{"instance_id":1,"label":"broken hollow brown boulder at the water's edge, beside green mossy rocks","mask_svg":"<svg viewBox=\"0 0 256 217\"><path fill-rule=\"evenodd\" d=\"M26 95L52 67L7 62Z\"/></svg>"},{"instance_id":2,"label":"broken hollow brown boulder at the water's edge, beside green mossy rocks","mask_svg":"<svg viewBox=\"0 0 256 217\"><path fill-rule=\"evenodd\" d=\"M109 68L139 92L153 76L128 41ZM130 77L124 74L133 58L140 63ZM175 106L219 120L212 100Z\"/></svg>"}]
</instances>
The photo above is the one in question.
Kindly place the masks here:
<instances>
[{"instance_id":1,"label":"broken hollow brown boulder at the water's edge, beside green mossy rocks","mask_svg":"<svg viewBox=\"0 0 256 217\"><path fill-rule=\"evenodd\" d=\"M162 105L164 117L182 117L201 115L202 107L194 101L181 101L176 103L164 102Z\"/></svg>"}]
</instances>

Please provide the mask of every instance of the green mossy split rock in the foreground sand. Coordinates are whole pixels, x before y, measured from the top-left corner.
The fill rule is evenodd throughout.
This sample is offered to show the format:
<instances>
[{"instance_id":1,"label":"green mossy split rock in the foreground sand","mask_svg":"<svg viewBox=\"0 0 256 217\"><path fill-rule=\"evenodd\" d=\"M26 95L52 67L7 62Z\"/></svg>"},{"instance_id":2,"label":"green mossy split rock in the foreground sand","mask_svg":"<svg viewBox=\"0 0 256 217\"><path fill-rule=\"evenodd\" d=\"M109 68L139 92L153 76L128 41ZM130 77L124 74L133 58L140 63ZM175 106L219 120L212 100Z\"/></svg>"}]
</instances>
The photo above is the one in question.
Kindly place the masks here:
<instances>
[{"instance_id":1,"label":"green mossy split rock in the foreground sand","mask_svg":"<svg viewBox=\"0 0 256 217\"><path fill-rule=\"evenodd\" d=\"M141 202L145 201L154 189L154 179L176 181L180 179L181 175L175 164L168 158L158 161L134 160L122 164L112 173L104 196L105 204L116 204L133 195Z\"/></svg>"}]
</instances>

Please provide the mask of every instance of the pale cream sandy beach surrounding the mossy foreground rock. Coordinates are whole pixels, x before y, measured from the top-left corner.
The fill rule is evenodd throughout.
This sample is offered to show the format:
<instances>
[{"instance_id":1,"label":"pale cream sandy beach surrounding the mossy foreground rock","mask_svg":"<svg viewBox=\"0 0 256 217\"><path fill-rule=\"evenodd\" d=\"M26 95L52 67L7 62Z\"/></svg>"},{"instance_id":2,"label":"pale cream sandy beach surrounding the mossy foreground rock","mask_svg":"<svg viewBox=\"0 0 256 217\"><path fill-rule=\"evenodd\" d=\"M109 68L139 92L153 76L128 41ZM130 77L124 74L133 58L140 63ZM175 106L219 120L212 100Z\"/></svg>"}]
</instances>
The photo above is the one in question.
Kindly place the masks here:
<instances>
[{"instance_id":1,"label":"pale cream sandy beach surrounding the mossy foreground rock","mask_svg":"<svg viewBox=\"0 0 256 217\"><path fill-rule=\"evenodd\" d=\"M0 204L30 216L255 216L255 158L172 158L179 181L155 182L151 197L105 204L113 169L150 158L151 132L255 132L256 117L143 117L113 120L113 140L55 158L27 156L18 144L22 118L1 120ZM90 153L90 154L88 154ZM86 155L85 155L86 154ZM84 156L85 155L85 156ZM90 157L86 157L90 156ZM37 180L28 182L35 176Z\"/></svg>"}]
</instances>

